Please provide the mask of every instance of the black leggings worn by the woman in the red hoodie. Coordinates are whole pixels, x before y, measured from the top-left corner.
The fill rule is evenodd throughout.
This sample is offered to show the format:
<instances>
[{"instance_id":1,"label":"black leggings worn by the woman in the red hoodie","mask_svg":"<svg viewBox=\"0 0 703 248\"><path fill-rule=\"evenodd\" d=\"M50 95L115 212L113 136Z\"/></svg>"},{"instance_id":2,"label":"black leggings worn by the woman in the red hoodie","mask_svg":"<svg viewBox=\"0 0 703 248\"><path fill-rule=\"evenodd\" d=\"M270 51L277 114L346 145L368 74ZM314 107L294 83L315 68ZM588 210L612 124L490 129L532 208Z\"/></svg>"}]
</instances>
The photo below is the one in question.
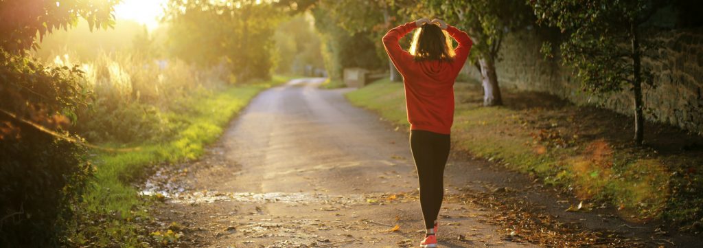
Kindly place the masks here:
<instances>
[{"instance_id":1,"label":"black leggings worn by the woman in the red hoodie","mask_svg":"<svg viewBox=\"0 0 703 248\"><path fill-rule=\"evenodd\" d=\"M444 198L444 165L449 157L449 134L424 130L410 131L410 149L420 181L420 207L425 228L434 227Z\"/></svg>"}]
</instances>

